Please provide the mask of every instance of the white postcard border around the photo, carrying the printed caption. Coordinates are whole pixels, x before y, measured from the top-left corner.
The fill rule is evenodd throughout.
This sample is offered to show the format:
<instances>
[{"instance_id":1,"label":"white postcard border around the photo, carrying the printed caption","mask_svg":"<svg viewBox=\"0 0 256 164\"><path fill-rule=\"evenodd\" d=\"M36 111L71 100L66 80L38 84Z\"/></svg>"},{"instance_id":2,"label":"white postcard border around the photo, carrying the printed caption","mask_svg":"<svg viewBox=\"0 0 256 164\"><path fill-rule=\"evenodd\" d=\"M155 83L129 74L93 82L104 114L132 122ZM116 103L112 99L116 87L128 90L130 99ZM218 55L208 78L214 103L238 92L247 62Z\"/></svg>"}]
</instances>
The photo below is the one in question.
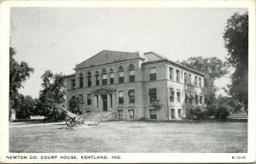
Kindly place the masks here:
<instances>
[{"instance_id":1,"label":"white postcard border around the photo, carrying the printed caption","mask_svg":"<svg viewBox=\"0 0 256 164\"><path fill-rule=\"evenodd\" d=\"M248 8L249 11L249 103L247 153L9 153L9 11L11 7L113 7L113 8ZM197 0L197 1L3 1L0 3L0 162L255 162L255 2L253 0ZM73 156L95 155L122 157L120 160L7 160L7 155L19 156ZM246 156L245 160L232 156Z\"/></svg>"}]
</instances>

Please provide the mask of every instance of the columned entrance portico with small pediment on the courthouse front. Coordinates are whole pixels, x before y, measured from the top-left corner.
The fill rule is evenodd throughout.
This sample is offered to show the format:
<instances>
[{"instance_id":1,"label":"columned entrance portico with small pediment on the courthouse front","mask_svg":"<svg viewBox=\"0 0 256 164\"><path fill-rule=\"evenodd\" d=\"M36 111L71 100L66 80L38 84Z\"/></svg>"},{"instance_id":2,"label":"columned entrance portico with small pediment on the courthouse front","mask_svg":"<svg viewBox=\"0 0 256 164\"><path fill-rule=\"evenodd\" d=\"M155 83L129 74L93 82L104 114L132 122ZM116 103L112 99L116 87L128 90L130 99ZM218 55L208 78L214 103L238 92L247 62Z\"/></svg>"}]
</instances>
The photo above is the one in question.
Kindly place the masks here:
<instances>
[{"instance_id":1,"label":"columned entrance portico with small pediment on the courthouse front","mask_svg":"<svg viewBox=\"0 0 256 164\"><path fill-rule=\"evenodd\" d=\"M100 88L93 92L93 109L101 111L109 111L113 109L115 104L115 89L113 88Z\"/></svg>"}]
</instances>

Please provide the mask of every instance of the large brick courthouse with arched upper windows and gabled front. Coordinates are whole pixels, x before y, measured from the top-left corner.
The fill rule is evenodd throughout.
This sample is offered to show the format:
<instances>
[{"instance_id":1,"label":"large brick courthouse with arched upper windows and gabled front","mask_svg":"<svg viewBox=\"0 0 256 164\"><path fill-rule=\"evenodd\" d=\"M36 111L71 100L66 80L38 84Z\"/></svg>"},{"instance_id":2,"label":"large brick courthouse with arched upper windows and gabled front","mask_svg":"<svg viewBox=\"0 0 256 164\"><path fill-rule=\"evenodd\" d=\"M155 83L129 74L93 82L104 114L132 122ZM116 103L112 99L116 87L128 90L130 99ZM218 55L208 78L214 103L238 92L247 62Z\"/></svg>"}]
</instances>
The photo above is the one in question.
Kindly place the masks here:
<instances>
[{"instance_id":1,"label":"large brick courthouse with arched upper windows and gabled front","mask_svg":"<svg viewBox=\"0 0 256 164\"><path fill-rule=\"evenodd\" d=\"M105 120L154 120L150 102L156 98L164 104L160 120L182 119L204 105L204 74L154 52L103 50L74 71L66 76L67 108L79 95L83 114L102 112Z\"/></svg>"}]
</instances>

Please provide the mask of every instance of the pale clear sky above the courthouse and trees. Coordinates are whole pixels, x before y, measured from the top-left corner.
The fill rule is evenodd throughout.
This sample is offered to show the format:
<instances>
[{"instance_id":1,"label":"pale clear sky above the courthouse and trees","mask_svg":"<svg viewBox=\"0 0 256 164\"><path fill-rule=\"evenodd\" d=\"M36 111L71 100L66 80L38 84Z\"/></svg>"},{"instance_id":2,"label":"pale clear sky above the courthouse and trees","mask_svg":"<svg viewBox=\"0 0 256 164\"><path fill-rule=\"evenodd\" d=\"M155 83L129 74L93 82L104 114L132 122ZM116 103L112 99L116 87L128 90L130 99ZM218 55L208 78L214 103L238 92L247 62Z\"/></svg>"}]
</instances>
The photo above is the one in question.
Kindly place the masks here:
<instances>
[{"instance_id":1,"label":"pale clear sky above the courthouse and trees","mask_svg":"<svg viewBox=\"0 0 256 164\"><path fill-rule=\"evenodd\" d=\"M35 71L20 93L38 98L44 71L68 75L100 51L154 51L173 61L193 56L225 61L224 27L247 8L11 8L17 61ZM216 80L218 88L230 75ZM219 89L218 93L223 93Z\"/></svg>"}]
</instances>

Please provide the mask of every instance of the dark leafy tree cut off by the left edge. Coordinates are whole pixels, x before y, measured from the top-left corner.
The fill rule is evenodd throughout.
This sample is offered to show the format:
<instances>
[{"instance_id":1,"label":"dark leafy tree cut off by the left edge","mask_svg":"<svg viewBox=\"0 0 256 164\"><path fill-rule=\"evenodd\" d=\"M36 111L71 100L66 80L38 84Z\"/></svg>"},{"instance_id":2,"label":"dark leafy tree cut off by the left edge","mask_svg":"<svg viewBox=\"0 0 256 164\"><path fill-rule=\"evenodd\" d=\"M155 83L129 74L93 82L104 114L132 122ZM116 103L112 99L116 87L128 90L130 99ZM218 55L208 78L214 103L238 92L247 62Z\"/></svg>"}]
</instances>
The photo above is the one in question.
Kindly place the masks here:
<instances>
[{"instance_id":1,"label":"dark leafy tree cut off by the left edge","mask_svg":"<svg viewBox=\"0 0 256 164\"><path fill-rule=\"evenodd\" d=\"M22 88L22 82L34 71L26 62L17 62L14 58L16 51L9 47L9 120L12 112L20 110L22 96L18 92Z\"/></svg>"}]
</instances>

